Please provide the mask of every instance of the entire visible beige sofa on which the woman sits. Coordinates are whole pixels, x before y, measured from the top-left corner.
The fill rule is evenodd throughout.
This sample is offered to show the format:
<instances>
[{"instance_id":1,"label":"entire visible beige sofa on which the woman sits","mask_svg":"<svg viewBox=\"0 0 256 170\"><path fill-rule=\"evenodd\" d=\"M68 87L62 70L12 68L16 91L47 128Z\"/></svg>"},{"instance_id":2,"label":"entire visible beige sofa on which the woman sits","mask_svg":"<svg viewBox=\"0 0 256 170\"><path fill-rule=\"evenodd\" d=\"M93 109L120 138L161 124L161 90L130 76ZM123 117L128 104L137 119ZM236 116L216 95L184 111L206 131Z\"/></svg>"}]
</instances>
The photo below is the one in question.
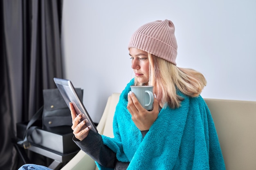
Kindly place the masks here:
<instances>
[{"instance_id":1,"label":"entire visible beige sofa on which the woman sits","mask_svg":"<svg viewBox=\"0 0 256 170\"><path fill-rule=\"evenodd\" d=\"M97 129L113 137L112 119L119 100L113 93L106 104ZM256 170L256 102L205 99L216 125L227 170ZM61 170L95 170L94 160L83 151Z\"/></svg>"}]
</instances>

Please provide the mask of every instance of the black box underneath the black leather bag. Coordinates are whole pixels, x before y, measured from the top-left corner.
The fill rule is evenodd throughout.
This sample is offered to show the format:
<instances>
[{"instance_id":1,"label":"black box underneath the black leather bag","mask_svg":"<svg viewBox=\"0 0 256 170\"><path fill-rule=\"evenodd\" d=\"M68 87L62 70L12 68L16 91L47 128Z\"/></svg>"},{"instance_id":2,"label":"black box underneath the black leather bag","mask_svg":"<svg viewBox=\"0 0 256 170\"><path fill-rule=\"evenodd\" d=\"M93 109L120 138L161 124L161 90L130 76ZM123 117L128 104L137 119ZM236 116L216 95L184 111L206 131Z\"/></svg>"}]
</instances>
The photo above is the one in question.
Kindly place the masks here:
<instances>
[{"instance_id":1,"label":"black box underneath the black leather bag","mask_svg":"<svg viewBox=\"0 0 256 170\"><path fill-rule=\"evenodd\" d=\"M27 123L28 122L21 122L16 124L18 140L23 140ZM73 133L57 134L42 130L41 121L37 121L33 126L37 126L37 128L32 132L30 137L28 137L28 141L31 143L60 153L69 153L80 149L72 140L72 137L74 136Z\"/></svg>"}]
</instances>

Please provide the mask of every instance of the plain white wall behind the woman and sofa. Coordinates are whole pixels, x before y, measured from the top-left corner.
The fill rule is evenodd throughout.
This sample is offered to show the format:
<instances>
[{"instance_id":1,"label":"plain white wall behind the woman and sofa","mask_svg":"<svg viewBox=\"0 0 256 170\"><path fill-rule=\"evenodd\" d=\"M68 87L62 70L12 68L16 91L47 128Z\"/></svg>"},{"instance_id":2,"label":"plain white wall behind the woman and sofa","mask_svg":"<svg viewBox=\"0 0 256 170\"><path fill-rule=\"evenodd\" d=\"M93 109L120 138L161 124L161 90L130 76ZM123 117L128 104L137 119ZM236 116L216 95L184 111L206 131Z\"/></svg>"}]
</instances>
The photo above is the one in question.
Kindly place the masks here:
<instances>
[{"instance_id":1,"label":"plain white wall behind the woman and sofa","mask_svg":"<svg viewBox=\"0 0 256 170\"><path fill-rule=\"evenodd\" d=\"M64 0L65 75L84 89L83 103L98 122L109 95L133 77L127 45L154 20L172 20L177 66L207 78L204 98L256 101L255 0Z\"/></svg>"}]
</instances>

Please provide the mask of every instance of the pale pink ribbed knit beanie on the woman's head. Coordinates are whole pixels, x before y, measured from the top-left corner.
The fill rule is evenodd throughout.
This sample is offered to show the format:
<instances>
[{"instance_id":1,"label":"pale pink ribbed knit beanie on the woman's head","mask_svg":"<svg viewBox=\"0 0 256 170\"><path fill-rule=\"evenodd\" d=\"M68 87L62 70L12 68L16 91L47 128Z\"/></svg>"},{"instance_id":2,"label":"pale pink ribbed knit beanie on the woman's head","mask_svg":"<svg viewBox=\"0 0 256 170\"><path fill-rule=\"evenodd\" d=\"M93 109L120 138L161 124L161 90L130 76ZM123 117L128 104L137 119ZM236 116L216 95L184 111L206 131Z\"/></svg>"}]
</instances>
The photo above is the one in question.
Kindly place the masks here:
<instances>
[{"instance_id":1,"label":"pale pink ribbed knit beanie on the woman's head","mask_svg":"<svg viewBox=\"0 0 256 170\"><path fill-rule=\"evenodd\" d=\"M135 31L128 49L141 49L176 65L177 42L174 31L174 24L170 20L149 22Z\"/></svg>"}]
</instances>

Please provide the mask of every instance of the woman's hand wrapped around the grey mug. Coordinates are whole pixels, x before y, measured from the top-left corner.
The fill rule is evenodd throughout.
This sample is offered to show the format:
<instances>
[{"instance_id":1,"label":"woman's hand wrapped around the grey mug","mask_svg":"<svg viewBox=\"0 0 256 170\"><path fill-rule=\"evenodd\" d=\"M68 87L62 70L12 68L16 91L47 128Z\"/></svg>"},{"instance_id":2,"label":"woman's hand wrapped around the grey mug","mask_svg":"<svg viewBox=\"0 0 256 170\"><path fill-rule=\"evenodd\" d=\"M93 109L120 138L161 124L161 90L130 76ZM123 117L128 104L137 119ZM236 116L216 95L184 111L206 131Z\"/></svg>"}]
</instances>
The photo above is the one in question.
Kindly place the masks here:
<instances>
[{"instance_id":1,"label":"woman's hand wrapped around the grey mug","mask_svg":"<svg viewBox=\"0 0 256 170\"><path fill-rule=\"evenodd\" d=\"M141 106L134 93L128 93L127 109L132 115L132 121L139 130L149 130L150 126L155 122L159 113L159 105L154 97L153 110L148 111Z\"/></svg>"}]
</instances>

